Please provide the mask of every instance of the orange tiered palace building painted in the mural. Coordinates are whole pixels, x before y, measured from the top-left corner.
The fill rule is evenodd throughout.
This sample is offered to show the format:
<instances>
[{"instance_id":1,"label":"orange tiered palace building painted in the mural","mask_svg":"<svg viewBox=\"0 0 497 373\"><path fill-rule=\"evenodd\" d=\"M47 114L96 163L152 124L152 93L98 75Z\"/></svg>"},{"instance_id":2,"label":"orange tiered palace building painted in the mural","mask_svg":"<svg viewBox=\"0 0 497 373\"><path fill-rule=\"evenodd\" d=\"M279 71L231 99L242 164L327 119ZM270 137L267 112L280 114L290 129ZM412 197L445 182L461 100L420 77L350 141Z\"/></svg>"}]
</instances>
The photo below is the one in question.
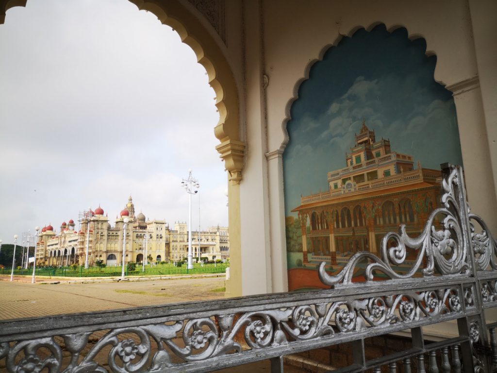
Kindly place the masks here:
<instances>
[{"instance_id":1,"label":"orange tiered palace building painted in the mural","mask_svg":"<svg viewBox=\"0 0 497 373\"><path fill-rule=\"evenodd\" d=\"M346 167L328 173L327 192L301 197L297 212L303 262L377 253L383 236L400 224L415 236L437 205L441 172L414 168L413 157L392 152L390 140L376 141L362 123Z\"/></svg>"}]
</instances>

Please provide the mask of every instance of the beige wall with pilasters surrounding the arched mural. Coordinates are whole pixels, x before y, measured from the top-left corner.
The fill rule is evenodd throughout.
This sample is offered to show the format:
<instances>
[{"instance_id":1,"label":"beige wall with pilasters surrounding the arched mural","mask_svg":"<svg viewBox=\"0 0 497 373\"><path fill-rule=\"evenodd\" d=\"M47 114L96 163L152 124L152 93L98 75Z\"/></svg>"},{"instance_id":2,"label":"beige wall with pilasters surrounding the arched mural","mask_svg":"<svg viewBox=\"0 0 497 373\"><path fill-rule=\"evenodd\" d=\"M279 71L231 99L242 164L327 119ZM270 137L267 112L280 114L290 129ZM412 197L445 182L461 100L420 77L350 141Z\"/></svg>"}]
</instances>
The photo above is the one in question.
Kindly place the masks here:
<instances>
[{"instance_id":1,"label":"beige wall with pilasters surrounding the arched mural","mask_svg":"<svg viewBox=\"0 0 497 373\"><path fill-rule=\"evenodd\" d=\"M428 55L437 56L434 79L455 93L472 211L497 232L497 23L491 15L497 12L491 8L496 8L495 1L245 2L242 111L247 157L240 186L244 294L286 290L281 151L287 143L291 103L313 63L343 35L361 27L406 27L410 38L426 40ZM478 20L474 30L472 19Z\"/></svg>"}]
</instances>

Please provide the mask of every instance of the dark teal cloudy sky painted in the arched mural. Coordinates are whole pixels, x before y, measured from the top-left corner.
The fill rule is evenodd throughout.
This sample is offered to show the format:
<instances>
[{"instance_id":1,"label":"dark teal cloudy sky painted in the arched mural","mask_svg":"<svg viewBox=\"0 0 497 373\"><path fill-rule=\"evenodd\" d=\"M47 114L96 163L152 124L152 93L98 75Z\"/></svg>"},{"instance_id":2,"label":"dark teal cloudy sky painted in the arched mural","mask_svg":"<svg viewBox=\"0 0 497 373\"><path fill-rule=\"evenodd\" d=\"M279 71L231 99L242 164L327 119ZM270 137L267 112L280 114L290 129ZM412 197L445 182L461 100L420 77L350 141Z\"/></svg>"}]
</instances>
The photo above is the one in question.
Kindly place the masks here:
<instances>
[{"instance_id":1,"label":"dark teal cloudy sky painted in the arched mural","mask_svg":"<svg viewBox=\"0 0 497 373\"><path fill-rule=\"evenodd\" d=\"M328 190L327 173L346 167L362 119L376 140L414 156L421 167L462 165L452 94L433 79L436 57L425 56L423 39L406 29L364 29L343 38L316 63L299 89L283 154L285 213L300 195ZM310 167L312 165L312 167Z\"/></svg>"}]
</instances>

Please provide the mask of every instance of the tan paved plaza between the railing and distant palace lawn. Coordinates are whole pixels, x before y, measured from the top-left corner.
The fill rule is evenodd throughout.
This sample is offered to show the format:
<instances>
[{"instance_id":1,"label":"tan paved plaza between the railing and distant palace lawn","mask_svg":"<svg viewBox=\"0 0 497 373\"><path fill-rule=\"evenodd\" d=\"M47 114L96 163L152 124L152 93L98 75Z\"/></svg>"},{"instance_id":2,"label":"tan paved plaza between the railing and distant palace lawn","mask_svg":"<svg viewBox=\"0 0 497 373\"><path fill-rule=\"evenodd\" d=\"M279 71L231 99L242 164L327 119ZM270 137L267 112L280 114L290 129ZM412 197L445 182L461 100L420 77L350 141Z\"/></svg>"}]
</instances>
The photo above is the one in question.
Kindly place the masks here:
<instances>
[{"instance_id":1,"label":"tan paved plaza between the railing and distant palace lawn","mask_svg":"<svg viewBox=\"0 0 497 373\"><path fill-rule=\"evenodd\" d=\"M59 282L60 281L60 282ZM64 282L0 279L0 320L224 298L225 277ZM56 283L59 282L59 283Z\"/></svg>"}]
</instances>

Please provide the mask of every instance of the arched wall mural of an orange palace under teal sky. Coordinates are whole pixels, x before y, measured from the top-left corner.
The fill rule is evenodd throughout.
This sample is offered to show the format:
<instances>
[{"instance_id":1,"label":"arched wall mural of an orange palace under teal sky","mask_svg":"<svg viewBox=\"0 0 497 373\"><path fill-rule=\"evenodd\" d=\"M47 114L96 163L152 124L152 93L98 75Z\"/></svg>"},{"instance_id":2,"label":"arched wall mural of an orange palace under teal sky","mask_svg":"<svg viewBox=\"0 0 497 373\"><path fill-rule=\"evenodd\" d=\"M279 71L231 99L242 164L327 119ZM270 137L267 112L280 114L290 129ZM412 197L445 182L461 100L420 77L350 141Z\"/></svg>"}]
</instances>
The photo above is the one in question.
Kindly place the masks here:
<instances>
[{"instance_id":1,"label":"arched wall mural of an orange palace under teal sky","mask_svg":"<svg viewBox=\"0 0 497 373\"><path fill-rule=\"evenodd\" d=\"M357 252L378 255L400 224L417 236L438 204L440 164L462 164L453 98L424 50L405 30L362 29L301 85L283 155L290 290L323 287L323 261L336 272Z\"/></svg>"}]
</instances>

